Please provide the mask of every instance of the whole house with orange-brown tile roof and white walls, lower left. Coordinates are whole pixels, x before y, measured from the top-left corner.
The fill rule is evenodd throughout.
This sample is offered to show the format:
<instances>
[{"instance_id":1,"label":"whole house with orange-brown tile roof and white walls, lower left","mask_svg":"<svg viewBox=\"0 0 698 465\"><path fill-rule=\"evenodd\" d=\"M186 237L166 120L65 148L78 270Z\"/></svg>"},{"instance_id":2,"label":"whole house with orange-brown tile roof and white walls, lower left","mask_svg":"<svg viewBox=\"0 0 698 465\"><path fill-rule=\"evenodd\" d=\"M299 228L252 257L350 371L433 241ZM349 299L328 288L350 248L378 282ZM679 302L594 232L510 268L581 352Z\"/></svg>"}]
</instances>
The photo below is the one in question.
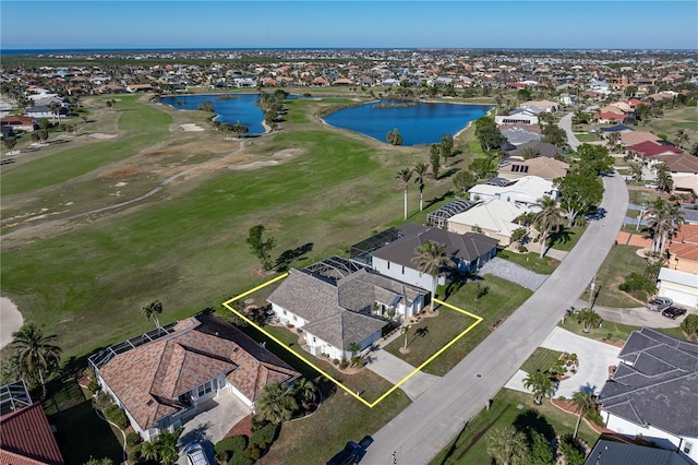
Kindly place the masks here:
<instances>
[{"instance_id":1,"label":"whole house with orange-brown tile roof and white walls, lower left","mask_svg":"<svg viewBox=\"0 0 698 465\"><path fill-rule=\"evenodd\" d=\"M109 347L89 357L89 365L147 441L181 427L204 401L234 395L253 410L266 384L290 384L300 375L215 315L192 317Z\"/></svg>"}]
</instances>

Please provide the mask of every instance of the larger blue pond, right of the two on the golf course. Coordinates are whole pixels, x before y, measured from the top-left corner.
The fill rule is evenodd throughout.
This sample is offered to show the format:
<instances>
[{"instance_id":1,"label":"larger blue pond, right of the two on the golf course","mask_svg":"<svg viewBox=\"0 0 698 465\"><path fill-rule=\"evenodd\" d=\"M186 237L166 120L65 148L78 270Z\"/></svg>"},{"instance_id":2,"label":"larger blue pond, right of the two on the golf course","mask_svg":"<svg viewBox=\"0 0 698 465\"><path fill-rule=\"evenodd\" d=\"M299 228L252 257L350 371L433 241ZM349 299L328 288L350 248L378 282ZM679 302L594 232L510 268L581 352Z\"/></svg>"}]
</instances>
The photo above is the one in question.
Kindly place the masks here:
<instances>
[{"instance_id":1,"label":"larger blue pond, right of the two on the golf course","mask_svg":"<svg viewBox=\"0 0 698 465\"><path fill-rule=\"evenodd\" d=\"M381 142L386 142L385 134L397 128L402 135L402 145L420 145L441 142L444 133L456 135L470 121L485 116L492 108L491 105L402 104L397 100L373 102L344 108L323 119L327 124L359 132ZM376 105L383 108L376 108Z\"/></svg>"}]
</instances>

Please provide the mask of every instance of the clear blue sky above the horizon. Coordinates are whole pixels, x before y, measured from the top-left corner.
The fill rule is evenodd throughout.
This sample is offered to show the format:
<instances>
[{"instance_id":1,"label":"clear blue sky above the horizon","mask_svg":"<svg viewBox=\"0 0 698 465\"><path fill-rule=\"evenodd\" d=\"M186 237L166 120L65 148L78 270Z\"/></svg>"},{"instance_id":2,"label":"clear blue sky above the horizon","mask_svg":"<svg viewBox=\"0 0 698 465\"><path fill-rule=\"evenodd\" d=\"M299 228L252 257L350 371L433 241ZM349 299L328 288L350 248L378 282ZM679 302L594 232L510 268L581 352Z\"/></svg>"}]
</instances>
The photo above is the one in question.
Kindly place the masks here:
<instances>
[{"instance_id":1,"label":"clear blue sky above the horizon","mask_svg":"<svg viewBox=\"0 0 698 465\"><path fill-rule=\"evenodd\" d=\"M698 1L0 1L22 48L698 49Z\"/></svg>"}]
</instances>

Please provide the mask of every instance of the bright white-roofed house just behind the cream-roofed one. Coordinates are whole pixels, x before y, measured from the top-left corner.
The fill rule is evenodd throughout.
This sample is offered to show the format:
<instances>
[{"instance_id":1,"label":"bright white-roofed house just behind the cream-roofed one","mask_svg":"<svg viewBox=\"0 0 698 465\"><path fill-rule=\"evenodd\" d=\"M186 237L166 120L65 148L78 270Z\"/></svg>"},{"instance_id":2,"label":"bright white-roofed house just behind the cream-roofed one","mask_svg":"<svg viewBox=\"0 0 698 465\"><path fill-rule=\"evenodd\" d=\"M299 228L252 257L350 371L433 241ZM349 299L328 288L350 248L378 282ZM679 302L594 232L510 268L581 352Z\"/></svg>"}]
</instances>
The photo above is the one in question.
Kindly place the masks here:
<instances>
[{"instance_id":1,"label":"bright white-roofed house just behind the cream-roofed one","mask_svg":"<svg viewBox=\"0 0 698 465\"><path fill-rule=\"evenodd\" d=\"M514 180L492 178L483 184L473 186L468 193L471 202L500 199L532 210L535 210L539 199L557 199L558 194L553 181L530 175Z\"/></svg>"}]
</instances>

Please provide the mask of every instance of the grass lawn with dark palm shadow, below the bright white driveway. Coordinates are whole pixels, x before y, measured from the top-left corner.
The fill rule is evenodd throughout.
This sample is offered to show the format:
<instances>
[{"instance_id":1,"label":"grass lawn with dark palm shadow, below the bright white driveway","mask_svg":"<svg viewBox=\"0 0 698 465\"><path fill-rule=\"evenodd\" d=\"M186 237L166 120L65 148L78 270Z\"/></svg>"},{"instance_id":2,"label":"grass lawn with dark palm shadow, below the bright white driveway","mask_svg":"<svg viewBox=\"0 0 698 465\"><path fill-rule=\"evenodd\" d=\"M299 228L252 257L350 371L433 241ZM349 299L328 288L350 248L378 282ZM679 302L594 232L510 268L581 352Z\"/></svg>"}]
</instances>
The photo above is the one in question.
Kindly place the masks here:
<instances>
[{"instance_id":1,"label":"grass lawn with dark palm shadow, below the bright white driveway","mask_svg":"<svg viewBox=\"0 0 698 465\"><path fill-rule=\"evenodd\" d=\"M550 431L552 428L559 436L575 430L577 416L561 410L547 400L542 405L534 405L532 395L504 389L493 401L492 407L489 410L482 409L468 421L456 439L430 462L431 465L492 463L486 451L486 434L498 426L513 425L522 432L528 427L538 431ZM579 438L592 446L599 434L582 422Z\"/></svg>"}]
</instances>

